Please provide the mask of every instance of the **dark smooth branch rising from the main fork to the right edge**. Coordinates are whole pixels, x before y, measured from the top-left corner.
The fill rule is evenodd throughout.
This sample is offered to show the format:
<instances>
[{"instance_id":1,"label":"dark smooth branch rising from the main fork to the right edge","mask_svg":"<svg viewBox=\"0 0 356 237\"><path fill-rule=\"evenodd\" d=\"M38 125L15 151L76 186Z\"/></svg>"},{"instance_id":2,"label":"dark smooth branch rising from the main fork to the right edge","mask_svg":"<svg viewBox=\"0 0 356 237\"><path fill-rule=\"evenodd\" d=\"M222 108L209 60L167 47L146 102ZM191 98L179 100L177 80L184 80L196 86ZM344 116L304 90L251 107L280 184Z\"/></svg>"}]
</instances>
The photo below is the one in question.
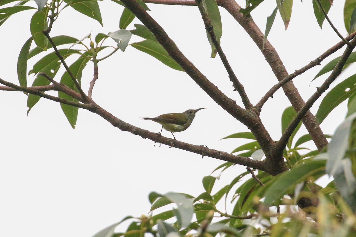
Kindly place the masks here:
<instances>
[{"instance_id":1,"label":"dark smooth branch rising from the main fork to the right edge","mask_svg":"<svg viewBox=\"0 0 356 237\"><path fill-rule=\"evenodd\" d=\"M340 75L342 68L345 66L346 60L349 58L355 46L356 46L356 39L353 39L350 42L350 45L347 46L346 50L340 57L339 62L337 62L330 76L325 80L325 82L319 88L317 88L316 92L312 95L312 97L309 98L309 100L307 101L307 103L305 103L302 109L298 111L297 115L294 117L292 122L290 122L286 131L284 131L281 139L279 140L277 144L277 152L278 151L283 152L283 149L284 147L286 147L290 135L293 133L294 129L298 126L298 123L300 122L300 120L302 120L305 113L312 107L312 105L320 97L320 95L323 94L329 88L330 84L333 83L335 79Z\"/></svg>"}]
</instances>

